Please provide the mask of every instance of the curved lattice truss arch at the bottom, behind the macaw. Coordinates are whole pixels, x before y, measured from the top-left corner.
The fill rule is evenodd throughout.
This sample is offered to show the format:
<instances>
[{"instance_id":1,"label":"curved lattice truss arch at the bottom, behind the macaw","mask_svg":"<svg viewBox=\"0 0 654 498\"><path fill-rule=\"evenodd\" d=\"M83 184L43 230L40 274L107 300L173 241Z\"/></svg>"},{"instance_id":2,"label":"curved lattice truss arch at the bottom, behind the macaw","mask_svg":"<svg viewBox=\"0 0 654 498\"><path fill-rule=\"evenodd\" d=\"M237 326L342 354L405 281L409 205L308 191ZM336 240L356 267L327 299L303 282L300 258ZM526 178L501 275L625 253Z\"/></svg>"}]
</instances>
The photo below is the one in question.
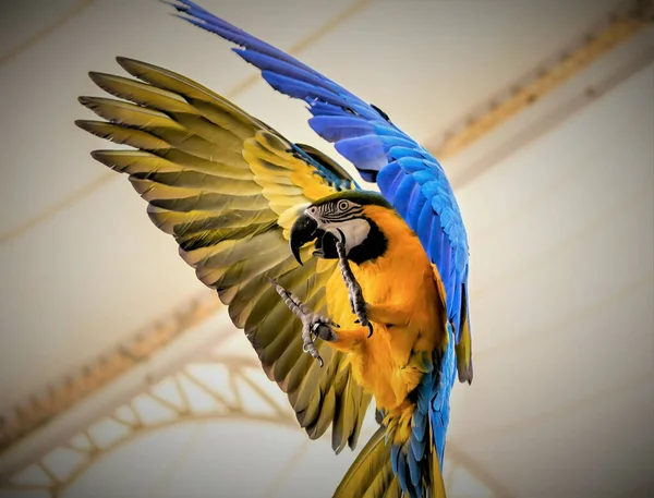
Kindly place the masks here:
<instances>
[{"instance_id":1,"label":"curved lattice truss arch at the bottom, behind the macaw","mask_svg":"<svg viewBox=\"0 0 654 498\"><path fill-rule=\"evenodd\" d=\"M0 496L63 498L78 477L111 451L146 433L193 421L250 421L301 430L284 394L268 380L256 359L211 354L153 384L68 442L49 449L11 476L0 488ZM362 434L362 439L366 436ZM299 452L303 449L305 446ZM507 496L456 447L450 446L448 452L445 478L452 496L457 496L458 475L476 481L488 496ZM278 476L280 482L284 478Z\"/></svg>"}]
</instances>

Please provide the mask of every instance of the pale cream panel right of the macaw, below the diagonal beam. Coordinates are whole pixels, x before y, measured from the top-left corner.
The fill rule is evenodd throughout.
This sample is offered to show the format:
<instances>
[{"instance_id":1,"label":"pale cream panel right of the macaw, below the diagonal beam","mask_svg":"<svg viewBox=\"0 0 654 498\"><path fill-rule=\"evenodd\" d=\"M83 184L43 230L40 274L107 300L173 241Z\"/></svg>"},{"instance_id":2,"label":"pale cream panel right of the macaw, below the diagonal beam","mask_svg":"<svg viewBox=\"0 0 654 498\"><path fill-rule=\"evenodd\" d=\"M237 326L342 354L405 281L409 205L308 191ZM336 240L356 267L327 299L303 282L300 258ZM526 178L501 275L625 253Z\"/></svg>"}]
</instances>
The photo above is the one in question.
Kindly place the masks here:
<instances>
[{"instance_id":1,"label":"pale cream panel right of the macaw, below the diagonal beam","mask_svg":"<svg viewBox=\"0 0 654 498\"><path fill-rule=\"evenodd\" d=\"M475 381L456 391L451 438L517 496L642 486L654 460L654 65L459 201Z\"/></svg>"}]
</instances>

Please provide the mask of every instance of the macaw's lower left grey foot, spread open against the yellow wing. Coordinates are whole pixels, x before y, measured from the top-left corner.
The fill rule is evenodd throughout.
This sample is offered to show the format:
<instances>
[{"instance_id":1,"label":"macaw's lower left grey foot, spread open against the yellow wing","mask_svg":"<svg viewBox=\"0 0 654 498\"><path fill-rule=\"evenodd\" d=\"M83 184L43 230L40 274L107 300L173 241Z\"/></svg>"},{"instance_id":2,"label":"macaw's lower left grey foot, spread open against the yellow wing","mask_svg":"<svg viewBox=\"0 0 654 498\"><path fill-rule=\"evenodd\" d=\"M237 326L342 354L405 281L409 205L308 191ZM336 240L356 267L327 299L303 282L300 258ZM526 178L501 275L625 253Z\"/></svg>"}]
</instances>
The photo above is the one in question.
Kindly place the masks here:
<instances>
[{"instance_id":1,"label":"macaw's lower left grey foot, spread open against the yellow wing","mask_svg":"<svg viewBox=\"0 0 654 498\"><path fill-rule=\"evenodd\" d=\"M323 359L316 348L315 340L319 337L324 341L335 341L337 336L334 332L332 327L339 328L340 326L323 315L313 313L313 311L300 301L296 295L287 291L275 280L270 279L270 282L293 315L302 320L302 351L316 359L322 367Z\"/></svg>"}]
</instances>

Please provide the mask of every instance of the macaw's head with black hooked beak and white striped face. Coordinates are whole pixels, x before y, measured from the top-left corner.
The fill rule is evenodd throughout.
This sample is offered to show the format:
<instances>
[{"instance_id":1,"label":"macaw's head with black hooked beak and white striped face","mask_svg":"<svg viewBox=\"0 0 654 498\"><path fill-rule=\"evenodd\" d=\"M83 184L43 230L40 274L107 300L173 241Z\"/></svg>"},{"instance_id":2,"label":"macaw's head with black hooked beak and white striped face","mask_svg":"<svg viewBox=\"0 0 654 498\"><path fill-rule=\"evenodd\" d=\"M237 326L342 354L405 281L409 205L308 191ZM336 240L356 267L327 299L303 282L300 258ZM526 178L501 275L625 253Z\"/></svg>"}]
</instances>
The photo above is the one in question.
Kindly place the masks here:
<instances>
[{"instance_id":1,"label":"macaw's head with black hooked beak and white striped face","mask_svg":"<svg viewBox=\"0 0 654 498\"><path fill-rule=\"evenodd\" d=\"M346 191L310 205L293 223L290 245L300 264L300 248L315 242L314 255L338 258L336 243L346 246L348 259L361 264L384 254L387 240L372 216L375 208L392 210L376 192Z\"/></svg>"}]
</instances>

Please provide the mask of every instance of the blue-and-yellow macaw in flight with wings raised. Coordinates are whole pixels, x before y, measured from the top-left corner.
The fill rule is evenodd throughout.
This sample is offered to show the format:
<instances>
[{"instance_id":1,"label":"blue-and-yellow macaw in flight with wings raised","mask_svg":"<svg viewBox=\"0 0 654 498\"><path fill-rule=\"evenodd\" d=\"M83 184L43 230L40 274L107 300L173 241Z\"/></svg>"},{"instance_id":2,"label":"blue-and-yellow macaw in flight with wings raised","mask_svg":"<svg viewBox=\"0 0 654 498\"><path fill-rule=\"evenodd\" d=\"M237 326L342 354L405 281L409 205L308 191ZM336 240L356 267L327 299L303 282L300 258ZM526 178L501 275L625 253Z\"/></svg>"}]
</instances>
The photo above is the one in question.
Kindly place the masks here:
<instances>
[{"instance_id":1,"label":"blue-and-yellow macaw in flight with wings raised","mask_svg":"<svg viewBox=\"0 0 654 498\"><path fill-rule=\"evenodd\" d=\"M335 496L444 497L455 378L473 376L465 228L440 163L379 108L190 0L177 15L239 46L272 88L379 192L172 71L92 72L122 100L80 97L76 124L131 149L92 156L129 174L181 257L217 291L312 439L354 449ZM308 354L303 354L308 353Z\"/></svg>"}]
</instances>

